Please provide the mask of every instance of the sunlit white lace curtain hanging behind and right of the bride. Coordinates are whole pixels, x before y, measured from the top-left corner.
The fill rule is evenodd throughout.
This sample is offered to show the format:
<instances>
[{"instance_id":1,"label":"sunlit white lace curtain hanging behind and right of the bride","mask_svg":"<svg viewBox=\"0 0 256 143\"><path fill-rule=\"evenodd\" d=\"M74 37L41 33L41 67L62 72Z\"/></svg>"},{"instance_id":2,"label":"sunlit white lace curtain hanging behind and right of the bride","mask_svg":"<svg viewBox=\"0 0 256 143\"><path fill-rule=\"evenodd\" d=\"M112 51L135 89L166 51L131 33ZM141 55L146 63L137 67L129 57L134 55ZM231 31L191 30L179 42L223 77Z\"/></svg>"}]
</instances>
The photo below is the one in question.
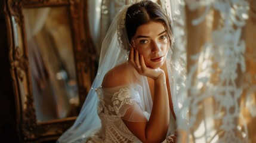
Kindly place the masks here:
<instances>
[{"instance_id":1,"label":"sunlit white lace curtain hanging behind and right of the bride","mask_svg":"<svg viewBox=\"0 0 256 143\"><path fill-rule=\"evenodd\" d=\"M102 0L100 32L92 32L98 53L113 15L127 2ZM187 63L186 80L174 77L185 85L177 94L187 96L181 106L187 124L177 120L180 142L256 142L256 1L166 2L174 52Z\"/></svg>"}]
</instances>

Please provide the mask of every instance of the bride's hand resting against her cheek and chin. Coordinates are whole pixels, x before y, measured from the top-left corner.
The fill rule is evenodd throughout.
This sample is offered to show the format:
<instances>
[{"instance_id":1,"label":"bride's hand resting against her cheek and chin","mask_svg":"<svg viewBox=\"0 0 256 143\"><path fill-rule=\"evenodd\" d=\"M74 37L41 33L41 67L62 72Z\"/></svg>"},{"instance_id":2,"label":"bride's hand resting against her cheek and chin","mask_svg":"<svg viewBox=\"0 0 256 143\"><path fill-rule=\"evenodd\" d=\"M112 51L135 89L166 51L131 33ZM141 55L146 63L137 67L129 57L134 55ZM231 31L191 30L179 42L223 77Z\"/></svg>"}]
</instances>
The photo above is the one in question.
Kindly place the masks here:
<instances>
[{"instance_id":1,"label":"bride's hand resting against her cheek and chin","mask_svg":"<svg viewBox=\"0 0 256 143\"><path fill-rule=\"evenodd\" d=\"M131 48L129 52L129 63L138 71L139 74L143 76L150 77L152 79L158 79L158 77L163 76L165 73L160 67L157 69L152 69L147 67L143 55L139 54L137 49Z\"/></svg>"}]
</instances>

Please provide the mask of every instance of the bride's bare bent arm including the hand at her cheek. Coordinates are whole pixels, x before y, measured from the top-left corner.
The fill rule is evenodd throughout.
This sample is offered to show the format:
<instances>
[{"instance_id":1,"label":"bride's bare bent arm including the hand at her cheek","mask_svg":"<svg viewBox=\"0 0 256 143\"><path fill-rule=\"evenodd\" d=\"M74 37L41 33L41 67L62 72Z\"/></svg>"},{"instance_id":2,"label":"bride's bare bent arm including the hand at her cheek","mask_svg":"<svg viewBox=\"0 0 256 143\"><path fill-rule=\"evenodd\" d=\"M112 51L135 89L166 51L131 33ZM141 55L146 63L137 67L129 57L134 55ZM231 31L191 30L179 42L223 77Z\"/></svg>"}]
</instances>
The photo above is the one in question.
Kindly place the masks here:
<instances>
[{"instance_id":1,"label":"bride's bare bent arm including the hand at her cheek","mask_svg":"<svg viewBox=\"0 0 256 143\"><path fill-rule=\"evenodd\" d=\"M141 55L140 55L141 56ZM134 58L135 57L135 58ZM123 120L127 128L142 142L162 142L166 138L169 125L169 99L168 91L166 88L165 73L161 69L149 69L144 64L143 57L138 57L138 52L131 49L129 59L135 59L129 61L132 66L139 63L141 69L137 70L138 73L150 77L154 80L154 96L153 107L149 121L145 122L129 122ZM138 60L140 59L140 60ZM136 68L135 68L136 69ZM129 109L128 109L129 112ZM136 111L138 117L141 116L142 111ZM146 117L144 117L146 119Z\"/></svg>"}]
</instances>

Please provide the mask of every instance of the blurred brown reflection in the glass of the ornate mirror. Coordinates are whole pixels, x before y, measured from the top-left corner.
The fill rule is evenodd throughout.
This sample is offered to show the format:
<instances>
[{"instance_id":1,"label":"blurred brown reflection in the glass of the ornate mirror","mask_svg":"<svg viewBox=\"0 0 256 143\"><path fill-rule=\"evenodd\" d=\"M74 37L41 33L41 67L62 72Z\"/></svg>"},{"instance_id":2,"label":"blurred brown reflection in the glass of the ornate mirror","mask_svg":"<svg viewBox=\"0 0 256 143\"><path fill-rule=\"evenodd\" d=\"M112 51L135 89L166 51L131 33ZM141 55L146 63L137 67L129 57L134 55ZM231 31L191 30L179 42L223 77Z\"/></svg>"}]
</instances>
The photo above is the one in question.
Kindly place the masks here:
<instances>
[{"instance_id":1,"label":"blurred brown reflection in the glass of the ornate mirror","mask_svg":"<svg viewBox=\"0 0 256 143\"><path fill-rule=\"evenodd\" d=\"M78 115L79 97L67 7L23 9L37 122Z\"/></svg>"}]
</instances>

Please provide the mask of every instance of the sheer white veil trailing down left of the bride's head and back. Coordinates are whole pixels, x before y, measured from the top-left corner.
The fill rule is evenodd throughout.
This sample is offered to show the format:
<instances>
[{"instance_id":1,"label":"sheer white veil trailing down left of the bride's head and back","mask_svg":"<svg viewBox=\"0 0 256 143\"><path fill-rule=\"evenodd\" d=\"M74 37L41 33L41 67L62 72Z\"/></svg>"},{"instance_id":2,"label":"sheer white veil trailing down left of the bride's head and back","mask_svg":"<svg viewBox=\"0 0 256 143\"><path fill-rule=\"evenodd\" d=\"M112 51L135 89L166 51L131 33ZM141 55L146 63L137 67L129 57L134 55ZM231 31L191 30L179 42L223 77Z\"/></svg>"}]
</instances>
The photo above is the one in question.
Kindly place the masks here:
<instances>
[{"instance_id":1,"label":"sheer white veil trailing down left of the bride's head and back","mask_svg":"<svg viewBox=\"0 0 256 143\"><path fill-rule=\"evenodd\" d=\"M95 89L101 86L107 71L128 59L128 53L119 46L121 37L118 37L122 33L118 32L118 29L120 30L124 26L125 13L128 7L129 5L122 7L113 19L102 44L98 72L87 95L87 99L73 126L60 136L58 142L85 142L94 130L101 127L97 114L98 98ZM124 38L125 33L122 33L122 38ZM122 45L125 44L127 43L122 43Z\"/></svg>"}]
</instances>

